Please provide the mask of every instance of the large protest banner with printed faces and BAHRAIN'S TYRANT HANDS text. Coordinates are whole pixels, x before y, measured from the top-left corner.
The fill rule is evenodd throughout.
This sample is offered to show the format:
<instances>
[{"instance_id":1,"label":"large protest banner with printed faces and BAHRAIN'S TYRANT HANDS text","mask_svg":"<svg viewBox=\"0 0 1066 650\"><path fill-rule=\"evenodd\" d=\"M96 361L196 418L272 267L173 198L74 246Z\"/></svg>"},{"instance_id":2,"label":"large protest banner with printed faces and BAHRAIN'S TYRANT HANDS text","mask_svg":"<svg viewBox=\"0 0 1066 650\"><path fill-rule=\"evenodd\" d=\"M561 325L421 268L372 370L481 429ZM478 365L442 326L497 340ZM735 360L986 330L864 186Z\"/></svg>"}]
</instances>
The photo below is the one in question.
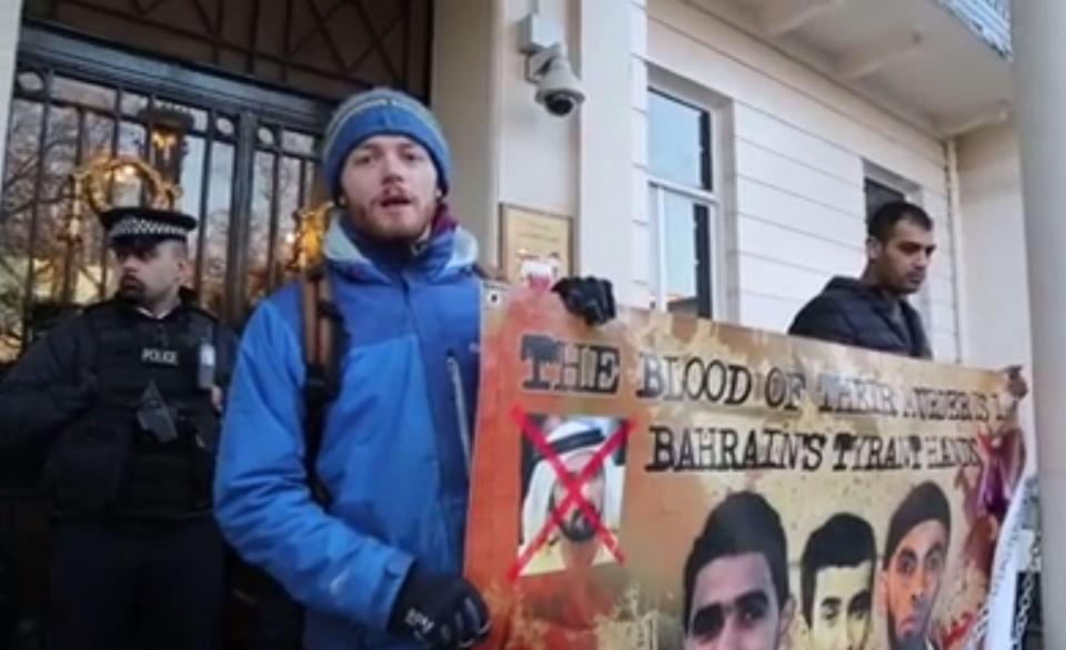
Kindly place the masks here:
<instances>
[{"instance_id":1,"label":"large protest banner with printed faces and BAHRAIN'S TYRANT HANDS text","mask_svg":"<svg viewBox=\"0 0 1066 650\"><path fill-rule=\"evenodd\" d=\"M485 296L486 648L965 648L1024 467L1000 375Z\"/></svg>"}]
</instances>

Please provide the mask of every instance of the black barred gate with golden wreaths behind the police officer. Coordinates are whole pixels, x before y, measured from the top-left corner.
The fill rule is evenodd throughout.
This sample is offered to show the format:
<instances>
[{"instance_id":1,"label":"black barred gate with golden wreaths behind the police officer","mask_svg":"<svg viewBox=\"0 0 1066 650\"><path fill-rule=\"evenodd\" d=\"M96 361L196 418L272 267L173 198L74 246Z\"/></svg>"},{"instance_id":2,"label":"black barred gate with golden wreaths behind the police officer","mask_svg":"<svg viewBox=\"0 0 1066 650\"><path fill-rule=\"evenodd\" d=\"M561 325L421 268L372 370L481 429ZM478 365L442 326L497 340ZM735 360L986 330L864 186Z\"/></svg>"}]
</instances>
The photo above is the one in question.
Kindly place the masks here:
<instances>
[{"instance_id":1,"label":"black barred gate with golden wreaths behind the police officer","mask_svg":"<svg viewBox=\"0 0 1066 650\"><path fill-rule=\"evenodd\" d=\"M0 362L19 354L34 323L113 287L95 214L72 219L71 174L91 160L138 156L181 186L178 207L201 225L191 284L204 306L239 323L291 268L295 212L315 202L328 112L24 30L0 195ZM128 166L110 173L101 200L143 202L145 184Z\"/></svg>"}]
</instances>

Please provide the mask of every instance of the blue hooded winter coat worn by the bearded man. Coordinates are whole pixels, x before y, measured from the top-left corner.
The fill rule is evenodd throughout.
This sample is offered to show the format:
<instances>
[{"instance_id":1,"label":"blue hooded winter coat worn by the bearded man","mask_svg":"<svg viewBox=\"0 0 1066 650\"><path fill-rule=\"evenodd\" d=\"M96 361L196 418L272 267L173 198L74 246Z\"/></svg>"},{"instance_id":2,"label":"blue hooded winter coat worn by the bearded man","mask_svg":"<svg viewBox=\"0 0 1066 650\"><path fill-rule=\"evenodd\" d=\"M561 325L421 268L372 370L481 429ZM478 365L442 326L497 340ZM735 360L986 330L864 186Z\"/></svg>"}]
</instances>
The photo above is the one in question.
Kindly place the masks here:
<instances>
[{"instance_id":1,"label":"blue hooded winter coat worn by the bearded man","mask_svg":"<svg viewBox=\"0 0 1066 650\"><path fill-rule=\"evenodd\" d=\"M415 559L462 571L476 243L449 230L411 257L334 225L326 257L346 333L316 464L333 501L323 510L312 500L304 471L303 327L290 285L255 309L241 342L215 515L241 556L308 607L308 648L416 648L384 630Z\"/></svg>"}]
</instances>

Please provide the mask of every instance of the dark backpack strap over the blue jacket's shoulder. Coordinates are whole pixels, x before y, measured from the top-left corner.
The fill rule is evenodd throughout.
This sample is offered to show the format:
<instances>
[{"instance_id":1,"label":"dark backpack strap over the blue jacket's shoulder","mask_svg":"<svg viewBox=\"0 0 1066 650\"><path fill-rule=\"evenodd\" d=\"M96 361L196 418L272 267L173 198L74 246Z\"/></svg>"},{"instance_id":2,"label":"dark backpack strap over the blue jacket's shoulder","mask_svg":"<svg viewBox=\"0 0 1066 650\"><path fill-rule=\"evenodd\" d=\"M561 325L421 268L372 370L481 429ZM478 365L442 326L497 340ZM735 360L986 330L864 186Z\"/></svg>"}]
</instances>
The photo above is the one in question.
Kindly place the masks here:
<instances>
[{"instance_id":1,"label":"dark backpack strap over the blue jacket's shoulder","mask_svg":"<svg viewBox=\"0 0 1066 650\"><path fill-rule=\"evenodd\" d=\"M315 468L325 428L325 410L340 393L341 314L333 303L330 278L322 266L309 270L300 280L303 303L303 360L306 379L303 385L304 455L311 494L328 506L332 496Z\"/></svg>"}]
</instances>

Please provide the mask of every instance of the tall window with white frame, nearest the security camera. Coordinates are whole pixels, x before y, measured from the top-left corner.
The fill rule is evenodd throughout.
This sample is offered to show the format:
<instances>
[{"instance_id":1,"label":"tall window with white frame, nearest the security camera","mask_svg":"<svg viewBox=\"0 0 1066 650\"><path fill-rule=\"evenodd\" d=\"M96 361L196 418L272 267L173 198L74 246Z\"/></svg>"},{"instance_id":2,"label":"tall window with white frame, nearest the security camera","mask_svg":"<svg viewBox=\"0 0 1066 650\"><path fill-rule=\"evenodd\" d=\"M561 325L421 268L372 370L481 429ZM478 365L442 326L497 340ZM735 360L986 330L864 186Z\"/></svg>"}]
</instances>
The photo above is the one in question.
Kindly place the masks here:
<instances>
[{"instance_id":1,"label":"tall window with white frame, nearest the security camera","mask_svg":"<svg viewBox=\"0 0 1066 650\"><path fill-rule=\"evenodd\" d=\"M652 307L711 317L720 213L713 115L655 89L647 113Z\"/></svg>"}]
</instances>

